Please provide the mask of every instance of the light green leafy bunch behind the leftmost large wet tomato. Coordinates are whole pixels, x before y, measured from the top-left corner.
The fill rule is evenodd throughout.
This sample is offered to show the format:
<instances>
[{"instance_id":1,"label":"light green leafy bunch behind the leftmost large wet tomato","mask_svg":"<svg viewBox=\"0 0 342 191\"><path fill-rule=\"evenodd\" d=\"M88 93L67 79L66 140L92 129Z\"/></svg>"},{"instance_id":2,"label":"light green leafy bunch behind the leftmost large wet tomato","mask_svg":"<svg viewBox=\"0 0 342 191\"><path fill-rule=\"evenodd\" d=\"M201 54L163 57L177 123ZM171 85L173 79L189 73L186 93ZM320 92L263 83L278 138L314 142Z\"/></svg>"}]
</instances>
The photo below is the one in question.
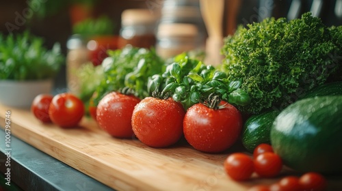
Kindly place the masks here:
<instances>
[{"instance_id":1,"label":"light green leafy bunch behind the leftmost large wet tomato","mask_svg":"<svg viewBox=\"0 0 342 191\"><path fill-rule=\"evenodd\" d=\"M118 50L109 50L103 67L103 78L96 88L93 102L97 105L110 91L126 91L138 98L148 95L148 77L165 70L164 61L154 49L126 46Z\"/></svg>"}]
</instances>

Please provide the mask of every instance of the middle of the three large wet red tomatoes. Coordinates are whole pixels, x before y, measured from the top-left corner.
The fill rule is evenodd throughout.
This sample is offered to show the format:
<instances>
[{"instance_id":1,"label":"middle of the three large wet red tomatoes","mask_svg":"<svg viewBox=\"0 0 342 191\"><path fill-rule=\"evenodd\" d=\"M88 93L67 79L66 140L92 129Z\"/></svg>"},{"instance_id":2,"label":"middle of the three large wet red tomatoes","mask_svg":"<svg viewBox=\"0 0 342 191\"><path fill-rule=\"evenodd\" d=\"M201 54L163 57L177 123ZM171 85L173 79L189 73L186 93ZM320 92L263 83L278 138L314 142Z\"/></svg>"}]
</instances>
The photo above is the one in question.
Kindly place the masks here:
<instances>
[{"instance_id":1,"label":"middle of the three large wet red tomatoes","mask_svg":"<svg viewBox=\"0 0 342 191\"><path fill-rule=\"evenodd\" d=\"M172 98L144 98L133 111L133 132L150 147L168 147L181 138L184 115L183 106Z\"/></svg>"}]
</instances>

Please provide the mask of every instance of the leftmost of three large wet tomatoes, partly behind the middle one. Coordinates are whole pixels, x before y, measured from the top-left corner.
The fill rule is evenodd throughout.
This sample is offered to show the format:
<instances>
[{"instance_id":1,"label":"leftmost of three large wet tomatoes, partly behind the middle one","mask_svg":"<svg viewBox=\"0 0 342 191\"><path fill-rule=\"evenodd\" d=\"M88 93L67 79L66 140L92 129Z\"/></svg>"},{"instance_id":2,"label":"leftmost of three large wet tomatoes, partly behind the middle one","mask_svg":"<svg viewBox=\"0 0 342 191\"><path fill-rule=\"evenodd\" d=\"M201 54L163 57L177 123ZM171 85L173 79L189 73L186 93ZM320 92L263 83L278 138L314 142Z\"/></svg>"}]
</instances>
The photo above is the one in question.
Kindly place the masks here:
<instances>
[{"instance_id":1,"label":"leftmost of three large wet tomatoes, partly behind the middle one","mask_svg":"<svg viewBox=\"0 0 342 191\"><path fill-rule=\"evenodd\" d=\"M134 135L131 126L133 109L139 102L140 99L133 95L108 93L97 105L98 126L111 136L131 138Z\"/></svg>"}]
</instances>

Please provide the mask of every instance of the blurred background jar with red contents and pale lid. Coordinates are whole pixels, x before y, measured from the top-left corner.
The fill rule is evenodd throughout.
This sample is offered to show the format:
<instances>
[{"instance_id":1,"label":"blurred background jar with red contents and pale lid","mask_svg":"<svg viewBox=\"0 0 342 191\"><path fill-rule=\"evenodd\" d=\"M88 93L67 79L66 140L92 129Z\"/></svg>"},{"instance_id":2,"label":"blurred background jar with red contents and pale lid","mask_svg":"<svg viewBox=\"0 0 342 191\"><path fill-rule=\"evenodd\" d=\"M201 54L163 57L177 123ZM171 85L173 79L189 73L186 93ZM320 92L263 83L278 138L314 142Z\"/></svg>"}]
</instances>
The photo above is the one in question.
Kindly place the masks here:
<instances>
[{"instance_id":1,"label":"blurred background jar with red contents and pale lid","mask_svg":"<svg viewBox=\"0 0 342 191\"><path fill-rule=\"evenodd\" d=\"M159 10L124 10L121 14L118 48L123 48L128 44L140 48L155 46L155 27L159 16Z\"/></svg>"}]
</instances>

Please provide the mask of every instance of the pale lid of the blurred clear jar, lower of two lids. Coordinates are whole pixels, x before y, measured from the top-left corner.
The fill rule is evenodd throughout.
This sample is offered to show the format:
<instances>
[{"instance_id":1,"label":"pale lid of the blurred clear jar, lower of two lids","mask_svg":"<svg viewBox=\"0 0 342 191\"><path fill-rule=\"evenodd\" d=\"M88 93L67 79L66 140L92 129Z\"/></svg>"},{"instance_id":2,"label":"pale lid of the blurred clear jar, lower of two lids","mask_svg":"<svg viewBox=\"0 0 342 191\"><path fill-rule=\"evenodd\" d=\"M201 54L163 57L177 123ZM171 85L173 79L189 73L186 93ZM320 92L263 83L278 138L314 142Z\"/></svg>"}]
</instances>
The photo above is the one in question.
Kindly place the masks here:
<instances>
[{"instance_id":1,"label":"pale lid of the blurred clear jar, lower of two lids","mask_svg":"<svg viewBox=\"0 0 342 191\"><path fill-rule=\"evenodd\" d=\"M186 23L160 24L157 30L157 38L164 37L195 37L198 34L196 25Z\"/></svg>"}]
</instances>

